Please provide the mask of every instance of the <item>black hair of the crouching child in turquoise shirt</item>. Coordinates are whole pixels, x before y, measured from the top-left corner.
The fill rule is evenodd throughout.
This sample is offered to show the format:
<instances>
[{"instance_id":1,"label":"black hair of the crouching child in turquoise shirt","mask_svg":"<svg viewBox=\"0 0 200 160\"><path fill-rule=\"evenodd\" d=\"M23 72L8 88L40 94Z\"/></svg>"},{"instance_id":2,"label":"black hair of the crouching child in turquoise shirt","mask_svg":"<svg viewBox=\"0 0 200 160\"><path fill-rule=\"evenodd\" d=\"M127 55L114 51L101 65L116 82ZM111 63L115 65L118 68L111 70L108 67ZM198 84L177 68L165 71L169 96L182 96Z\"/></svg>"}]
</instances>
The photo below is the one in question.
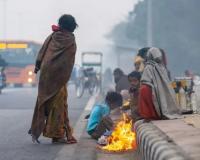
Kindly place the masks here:
<instances>
[{"instance_id":1,"label":"black hair of the crouching child in turquoise shirt","mask_svg":"<svg viewBox=\"0 0 200 160\"><path fill-rule=\"evenodd\" d=\"M108 104L115 104L116 106L122 105L122 95L117 92L108 92L105 98L105 102Z\"/></svg>"}]
</instances>

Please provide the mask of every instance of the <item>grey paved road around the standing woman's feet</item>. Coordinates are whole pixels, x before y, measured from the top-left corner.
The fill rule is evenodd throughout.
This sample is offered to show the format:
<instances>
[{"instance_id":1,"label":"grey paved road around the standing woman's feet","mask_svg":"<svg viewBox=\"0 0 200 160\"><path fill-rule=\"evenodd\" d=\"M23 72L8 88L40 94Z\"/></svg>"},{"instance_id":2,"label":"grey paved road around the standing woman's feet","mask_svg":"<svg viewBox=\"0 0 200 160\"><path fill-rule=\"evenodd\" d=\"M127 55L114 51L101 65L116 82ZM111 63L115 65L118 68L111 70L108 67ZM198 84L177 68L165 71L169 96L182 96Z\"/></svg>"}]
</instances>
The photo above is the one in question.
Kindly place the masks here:
<instances>
[{"instance_id":1,"label":"grey paved road around the standing woman's feet","mask_svg":"<svg viewBox=\"0 0 200 160\"><path fill-rule=\"evenodd\" d=\"M0 95L0 160L54 160L63 145L52 145L41 138L42 144L31 143L27 134L35 105L36 88L5 89ZM72 125L78 120L89 96L75 98L69 87L69 115Z\"/></svg>"}]
</instances>

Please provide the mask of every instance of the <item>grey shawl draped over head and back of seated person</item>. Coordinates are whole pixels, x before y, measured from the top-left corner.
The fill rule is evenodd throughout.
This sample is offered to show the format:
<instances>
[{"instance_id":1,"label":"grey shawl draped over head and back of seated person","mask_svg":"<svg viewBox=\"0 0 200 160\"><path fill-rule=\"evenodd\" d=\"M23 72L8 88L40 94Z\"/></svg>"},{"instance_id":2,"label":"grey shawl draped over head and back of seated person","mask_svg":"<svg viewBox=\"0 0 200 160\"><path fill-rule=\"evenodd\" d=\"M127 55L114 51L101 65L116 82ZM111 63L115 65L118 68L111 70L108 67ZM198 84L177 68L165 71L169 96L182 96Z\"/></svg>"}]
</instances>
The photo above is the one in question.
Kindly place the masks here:
<instances>
[{"instance_id":1,"label":"grey shawl draped over head and back of seated person","mask_svg":"<svg viewBox=\"0 0 200 160\"><path fill-rule=\"evenodd\" d=\"M152 88L155 110L162 119L178 117L175 92L170 86L167 70L162 63L162 53L158 48L151 48L147 53L141 83Z\"/></svg>"}]
</instances>

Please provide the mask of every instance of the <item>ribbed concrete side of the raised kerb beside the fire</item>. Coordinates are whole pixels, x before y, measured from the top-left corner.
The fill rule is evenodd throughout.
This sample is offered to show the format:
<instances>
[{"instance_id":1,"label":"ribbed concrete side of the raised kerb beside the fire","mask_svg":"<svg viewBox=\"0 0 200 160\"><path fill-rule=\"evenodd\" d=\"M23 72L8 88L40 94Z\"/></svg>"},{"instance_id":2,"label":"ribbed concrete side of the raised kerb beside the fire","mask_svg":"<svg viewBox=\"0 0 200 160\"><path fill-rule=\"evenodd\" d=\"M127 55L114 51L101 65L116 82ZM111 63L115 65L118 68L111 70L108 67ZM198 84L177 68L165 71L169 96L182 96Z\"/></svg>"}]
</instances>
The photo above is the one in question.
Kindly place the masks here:
<instances>
[{"instance_id":1,"label":"ribbed concrete side of the raised kerb beside the fire","mask_svg":"<svg viewBox=\"0 0 200 160\"><path fill-rule=\"evenodd\" d=\"M141 160L191 160L151 122L141 120L136 122L134 127Z\"/></svg>"}]
</instances>

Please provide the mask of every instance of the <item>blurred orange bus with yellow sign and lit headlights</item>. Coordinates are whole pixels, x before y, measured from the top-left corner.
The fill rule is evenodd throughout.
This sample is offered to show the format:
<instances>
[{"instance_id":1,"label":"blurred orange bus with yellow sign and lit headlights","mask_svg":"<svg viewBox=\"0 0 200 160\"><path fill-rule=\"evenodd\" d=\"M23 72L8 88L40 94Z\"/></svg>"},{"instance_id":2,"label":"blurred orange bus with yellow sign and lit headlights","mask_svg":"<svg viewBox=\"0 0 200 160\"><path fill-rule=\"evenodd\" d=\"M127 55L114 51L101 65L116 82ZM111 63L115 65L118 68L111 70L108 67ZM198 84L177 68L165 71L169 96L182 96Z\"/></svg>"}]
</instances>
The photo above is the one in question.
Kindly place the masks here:
<instances>
[{"instance_id":1,"label":"blurred orange bus with yellow sign and lit headlights","mask_svg":"<svg viewBox=\"0 0 200 160\"><path fill-rule=\"evenodd\" d=\"M0 54L7 62L6 84L14 86L37 84L33 73L41 44L33 41L0 41Z\"/></svg>"}]
</instances>

